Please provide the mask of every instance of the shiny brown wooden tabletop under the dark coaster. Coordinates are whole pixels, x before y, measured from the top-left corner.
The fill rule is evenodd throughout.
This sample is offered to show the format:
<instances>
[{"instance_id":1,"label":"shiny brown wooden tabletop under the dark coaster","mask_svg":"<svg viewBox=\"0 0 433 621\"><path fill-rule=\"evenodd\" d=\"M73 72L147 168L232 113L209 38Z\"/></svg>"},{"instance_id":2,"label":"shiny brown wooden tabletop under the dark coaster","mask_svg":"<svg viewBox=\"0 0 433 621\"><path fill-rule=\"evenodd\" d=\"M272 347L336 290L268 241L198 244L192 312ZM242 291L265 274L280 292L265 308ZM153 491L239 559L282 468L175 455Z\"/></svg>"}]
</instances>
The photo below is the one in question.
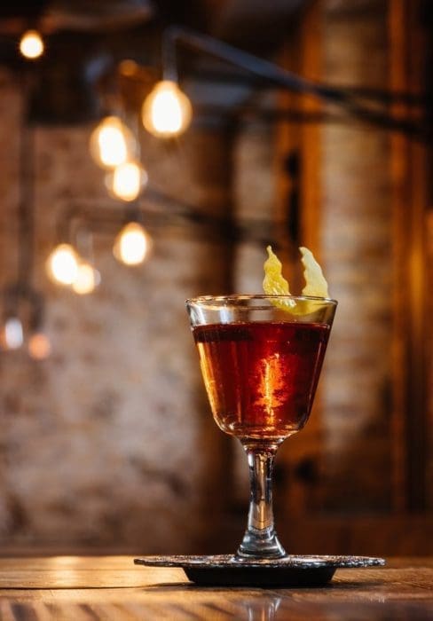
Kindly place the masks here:
<instances>
[{"instance_id":1,"label":"shiny brown wooden tabletop under the dark coaster","mask_svg":"<svg viewBox=\"0 0 433 621\"><path fill-rule=\"evenodd\" d=\"M194 586L132 556L0 558L1 621L146 619L433 620L433 558L337 570L324 588Z\"/></svg>"}]
</instances>

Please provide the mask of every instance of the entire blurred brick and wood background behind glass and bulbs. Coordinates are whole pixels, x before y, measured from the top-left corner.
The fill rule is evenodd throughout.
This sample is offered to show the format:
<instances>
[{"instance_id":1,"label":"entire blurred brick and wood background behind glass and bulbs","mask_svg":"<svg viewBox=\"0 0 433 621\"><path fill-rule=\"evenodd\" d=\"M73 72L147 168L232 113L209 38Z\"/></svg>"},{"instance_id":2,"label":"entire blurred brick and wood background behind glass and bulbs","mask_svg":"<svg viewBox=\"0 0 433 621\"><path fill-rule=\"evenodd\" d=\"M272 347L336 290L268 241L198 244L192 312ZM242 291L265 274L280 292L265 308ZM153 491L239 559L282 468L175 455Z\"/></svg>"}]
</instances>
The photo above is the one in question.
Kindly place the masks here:
<instances>
[{"instance_id":1,"label":"entire blurred brick and wood background behind glass and bulbs","mask_svg":"<svg viewBox=\"0 0 433 621\"><path fill-rule=\"evenodd\" d=\"M428 129L413 138L361 122L187 51L179 69L194 119L185 135L149 135L138 101L161 69L161 32L181 23L365 103L373 93L373 110L384 102L386 114L427 122L428 3L129 4L93 14L85 2L41 3L31 18L45 24L47 46L30 62L17 51L27 4L0 10L2 282L6 292L24 278L41 295L51 343L43 360L27 342L0 352L4 549L233 549L247 468L211 421L184 302L260 292L270 241L299 288L296 248L312 248L340 303L315 412L277 460L281 538L295 552L425 554ZM132 74L119 69L124 59L137 63ZM149 179L133 207L107 194L89 151L113 94ZM134 209L153 251L131 267L112 248ZM101 275L90 295L45 270L65 231L76 241L82 229Z\"/></svg>"}]
</instances>

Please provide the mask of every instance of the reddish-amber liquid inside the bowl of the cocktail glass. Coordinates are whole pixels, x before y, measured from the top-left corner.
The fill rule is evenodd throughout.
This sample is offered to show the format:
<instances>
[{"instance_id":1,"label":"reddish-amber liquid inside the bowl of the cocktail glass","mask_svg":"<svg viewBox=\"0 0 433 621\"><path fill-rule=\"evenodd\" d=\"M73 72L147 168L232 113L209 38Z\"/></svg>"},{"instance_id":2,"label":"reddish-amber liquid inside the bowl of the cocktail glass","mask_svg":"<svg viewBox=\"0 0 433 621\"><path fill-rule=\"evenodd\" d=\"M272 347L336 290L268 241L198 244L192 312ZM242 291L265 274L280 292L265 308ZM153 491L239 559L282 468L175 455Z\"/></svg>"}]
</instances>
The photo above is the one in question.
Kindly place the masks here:
<instances>
[{"instance_id":1,"label":"reddish-amber liquid inside the bowl of the cocktail glass","mask_svg":"<svg viewBox=\"0 0 433 621\"><path fill-rule=\"evenodd\" d=\"M248 322L193 328L216 423L240 438L282 439L308 419L329 326Z\"/></svg>"}]
</instances>

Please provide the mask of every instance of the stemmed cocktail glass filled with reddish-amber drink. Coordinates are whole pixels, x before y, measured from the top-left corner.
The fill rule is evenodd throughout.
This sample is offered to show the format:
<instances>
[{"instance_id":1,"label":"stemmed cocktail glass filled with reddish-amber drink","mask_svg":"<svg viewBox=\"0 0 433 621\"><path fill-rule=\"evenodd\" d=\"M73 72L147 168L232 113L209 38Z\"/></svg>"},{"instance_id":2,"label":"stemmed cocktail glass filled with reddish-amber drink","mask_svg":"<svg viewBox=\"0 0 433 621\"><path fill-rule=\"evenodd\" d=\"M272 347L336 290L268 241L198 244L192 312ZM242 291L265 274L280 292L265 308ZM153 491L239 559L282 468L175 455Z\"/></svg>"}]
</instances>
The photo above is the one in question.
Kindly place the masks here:
<instances>
[{"instance_id":1,"label":"stemmed cocktail glass filled with reddish-amber drink","mask_svg":"<svg viewBox=\"0 0 433 621\"><path fill-rule=\"evenodd\" d=\"M248 525L236 556L286 555L272 511L279 445L303 428L319 381L335 300L292 295L203 296L186 303L216 424L248 456Z\"/></svg>"}]
</instances>

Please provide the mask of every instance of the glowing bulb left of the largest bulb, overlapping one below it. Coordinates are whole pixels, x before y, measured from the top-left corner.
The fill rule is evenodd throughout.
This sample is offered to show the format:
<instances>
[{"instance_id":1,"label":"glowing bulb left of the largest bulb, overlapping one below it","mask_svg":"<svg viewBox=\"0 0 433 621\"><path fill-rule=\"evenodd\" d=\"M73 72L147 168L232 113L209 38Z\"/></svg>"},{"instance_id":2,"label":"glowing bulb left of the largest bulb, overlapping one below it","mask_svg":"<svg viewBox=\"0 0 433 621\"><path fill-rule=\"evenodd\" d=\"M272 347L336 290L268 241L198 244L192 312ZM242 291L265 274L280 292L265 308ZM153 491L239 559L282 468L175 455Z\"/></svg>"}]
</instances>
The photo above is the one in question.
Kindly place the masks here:
<instances>
[{"instance_id":1,"label":"glowing bulb left of the largest bulb, overlapping one below it","mask_svg":"<svg viewBox=\"0 0 433 621\"><path fill-rule=\"evenodd\" d=\"M135 151L135 139L118 116L106 116L91 132L91 156L98 166L114 169Z\"/></svg>"}]
</instances>

